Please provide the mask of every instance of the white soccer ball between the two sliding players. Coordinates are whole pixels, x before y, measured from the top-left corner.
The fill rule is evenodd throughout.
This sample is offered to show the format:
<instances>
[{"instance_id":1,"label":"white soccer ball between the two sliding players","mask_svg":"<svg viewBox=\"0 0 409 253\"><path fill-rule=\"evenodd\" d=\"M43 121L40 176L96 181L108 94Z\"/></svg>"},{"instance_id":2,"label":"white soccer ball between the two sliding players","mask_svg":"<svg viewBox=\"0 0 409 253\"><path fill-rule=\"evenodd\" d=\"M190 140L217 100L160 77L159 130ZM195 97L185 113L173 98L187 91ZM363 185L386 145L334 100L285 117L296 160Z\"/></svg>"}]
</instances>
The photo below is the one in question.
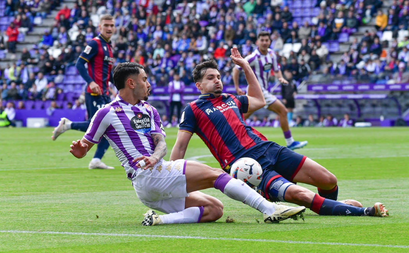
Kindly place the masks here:
<instances>
[{"instance_id":1,"label":"white soccer ball between the two sliding players","mask_svg":"<svg viewBox=\"0 0 409 253\"><path fill-rule=\"evenodd\" d=\"M230 169L231 177L240 179L251 188L255 188L261 182L263 169L258 161L250 157L243 157L233 163Z\"/></svg>"}]
</instances>

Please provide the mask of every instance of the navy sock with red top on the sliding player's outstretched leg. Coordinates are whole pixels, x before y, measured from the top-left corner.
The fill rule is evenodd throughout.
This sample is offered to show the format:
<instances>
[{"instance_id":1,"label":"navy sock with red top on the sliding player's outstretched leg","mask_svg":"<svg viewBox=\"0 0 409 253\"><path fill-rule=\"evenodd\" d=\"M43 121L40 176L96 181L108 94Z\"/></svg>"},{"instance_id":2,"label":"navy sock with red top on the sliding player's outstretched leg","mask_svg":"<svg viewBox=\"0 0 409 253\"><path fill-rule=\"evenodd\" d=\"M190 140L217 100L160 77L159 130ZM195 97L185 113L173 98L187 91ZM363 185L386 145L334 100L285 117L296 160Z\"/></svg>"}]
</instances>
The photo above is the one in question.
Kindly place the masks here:
<instances>
[{"instance_id":1,"label":"navy sock with red top on the sliding player's outstretched leg","mask_svg":"<svg viewBox=\"0 0 409 253\"><path fill-rule=\"evenodd\" d=\"M315 194L310 209L319 215L366 215L365 207L356 207L337 202L332 199L325 199Z\"/></svg>"}]
</instances>

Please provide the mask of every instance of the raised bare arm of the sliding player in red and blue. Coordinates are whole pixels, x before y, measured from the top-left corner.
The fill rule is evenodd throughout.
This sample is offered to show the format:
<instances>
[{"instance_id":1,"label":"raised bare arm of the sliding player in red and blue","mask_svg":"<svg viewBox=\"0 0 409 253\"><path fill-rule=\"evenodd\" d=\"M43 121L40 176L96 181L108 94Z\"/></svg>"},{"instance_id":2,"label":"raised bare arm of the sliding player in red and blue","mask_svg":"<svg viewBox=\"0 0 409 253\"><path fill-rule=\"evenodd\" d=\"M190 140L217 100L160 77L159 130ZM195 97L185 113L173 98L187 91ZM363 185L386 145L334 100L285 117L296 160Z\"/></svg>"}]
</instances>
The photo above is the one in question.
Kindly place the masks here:
<instances>
[{"instance_id":1,"label":"raised bare arm of the sliding player in red and blue","mask_svg":"<svg viewBox=\"0 0 409 253\"><path fill-rule=\"evenodd\" d=\"M234 64L239 65L243 69L247 83L249 84L247 88L247 95L249 97L249 112L258 110L261 107L265 106L265 99L260 84L258 83L257 77L250 67L248 61L240 55L237 47L233 47L232 49L230 49L230 51L231 60Z\"/></svg>"}]
</instances>

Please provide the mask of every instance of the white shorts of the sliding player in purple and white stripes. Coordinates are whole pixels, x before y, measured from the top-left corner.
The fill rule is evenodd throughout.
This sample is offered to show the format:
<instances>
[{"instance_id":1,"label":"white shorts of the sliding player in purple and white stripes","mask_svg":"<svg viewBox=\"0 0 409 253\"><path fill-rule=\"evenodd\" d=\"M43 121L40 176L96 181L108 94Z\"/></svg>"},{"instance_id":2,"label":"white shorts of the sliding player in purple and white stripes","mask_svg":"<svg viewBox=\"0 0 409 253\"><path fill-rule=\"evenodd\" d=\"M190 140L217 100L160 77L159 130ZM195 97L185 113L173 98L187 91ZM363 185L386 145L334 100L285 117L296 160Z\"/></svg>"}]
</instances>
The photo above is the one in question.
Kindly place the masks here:
<instances>
[{"instance_id":1,"label":"white shorts of the sliding player in purple and white stripes","mask_svg":"<svg viewBox=\"0 0 409 253\"><path fill-rule=\"evenodd\" d=\"M149 208L164 213L184 210L186 160L159 161L154 167L138 169L132 179L138 199Z\"/></svg>"}]
</instances>

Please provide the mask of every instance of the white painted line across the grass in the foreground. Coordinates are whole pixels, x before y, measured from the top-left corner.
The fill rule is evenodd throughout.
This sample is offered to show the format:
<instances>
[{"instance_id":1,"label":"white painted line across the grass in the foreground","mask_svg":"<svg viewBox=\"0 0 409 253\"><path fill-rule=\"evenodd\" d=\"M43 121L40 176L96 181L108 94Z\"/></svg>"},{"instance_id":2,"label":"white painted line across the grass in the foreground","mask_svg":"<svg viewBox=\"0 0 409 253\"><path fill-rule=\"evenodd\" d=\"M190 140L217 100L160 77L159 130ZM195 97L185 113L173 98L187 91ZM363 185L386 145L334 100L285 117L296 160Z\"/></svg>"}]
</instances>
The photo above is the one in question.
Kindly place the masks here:
<instances>
[{"instance_id":1,"label":"white painted line across the grass in the foreground","mask_svg":"<svg viewBox=\"0 0 409 253\"><path fill-rule=\"evenodd\" d=\"M384 248L402 248L409 249L409 245L383 245L383 244L363 244L363 243L343 243L343 242L305 242L305 241L284 241L284 240L266 240L266 239L243 239L243 238L216 238L201 236L180 236L180 235L140 235L140 234L115 234L115 233L80 233L80 232L56 232L56 231L18 231L18 230L0 230L0 233L14 234L47 234L47 235L102 235L117 237L157 237L171 239L196 239L196 240L219 240L219 241L241 241L241 242L276 242L288 244L321 244L321 245L342 245L342 246L369 246Z\"/></svg>"}]
</instances>

